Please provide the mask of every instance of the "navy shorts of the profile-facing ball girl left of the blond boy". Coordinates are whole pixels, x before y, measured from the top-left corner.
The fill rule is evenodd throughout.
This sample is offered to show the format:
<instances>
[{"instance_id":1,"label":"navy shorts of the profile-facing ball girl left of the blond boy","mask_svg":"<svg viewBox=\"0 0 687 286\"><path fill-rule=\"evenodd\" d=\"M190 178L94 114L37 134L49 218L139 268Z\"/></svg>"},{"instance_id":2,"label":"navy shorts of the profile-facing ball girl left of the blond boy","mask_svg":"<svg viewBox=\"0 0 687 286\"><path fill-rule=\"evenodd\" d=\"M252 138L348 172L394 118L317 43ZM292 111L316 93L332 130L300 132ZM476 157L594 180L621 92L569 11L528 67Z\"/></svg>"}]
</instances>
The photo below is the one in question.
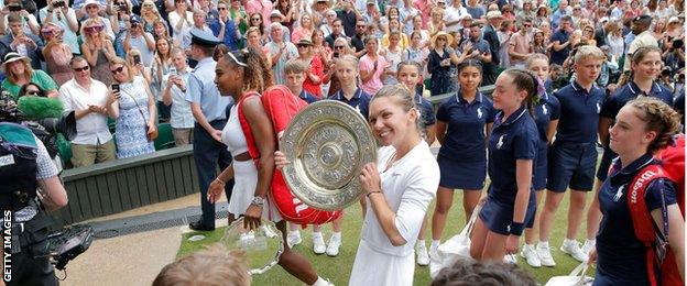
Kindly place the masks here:
<instances>
[{"instance_id":1,"label":"navy shorts of the profile-facing ball girl left of the blond boy","mask_svg":"<svg viewBox=\"0 0 687 286\"><path fill-rule=\"evenodd\" d=\"M534 196L534 194L531 194ZM534 226L534 213L536 207L534 200L530 199L527 205L527 213L525 213L525 228L532 228ZM480 219L484 221L487 228L499 234L509 235L511 223L513 223L513 206L501 204L494 199L487 199L484 206L480 210Z\"/></svg>"}]
</instances>

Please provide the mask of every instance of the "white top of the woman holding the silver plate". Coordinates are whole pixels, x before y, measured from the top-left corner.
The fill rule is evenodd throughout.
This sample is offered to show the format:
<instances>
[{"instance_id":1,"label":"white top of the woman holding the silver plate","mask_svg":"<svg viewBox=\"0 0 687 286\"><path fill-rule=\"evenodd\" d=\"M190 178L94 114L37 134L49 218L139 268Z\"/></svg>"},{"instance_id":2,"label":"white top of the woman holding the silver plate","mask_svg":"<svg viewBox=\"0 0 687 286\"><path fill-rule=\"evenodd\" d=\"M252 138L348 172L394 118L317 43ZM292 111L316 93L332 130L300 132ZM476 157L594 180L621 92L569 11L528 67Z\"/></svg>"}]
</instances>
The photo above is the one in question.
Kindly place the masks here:
<instances>
[{"instance_id":1,"label":"white top of the woman holding the silver plate","mask_svg":"<svg viewBox=\"0 0 687 286\"><path fill-rule=\"evenodd\" d=\"M406 256L413 253L429 202L436 196L439 186L439 165L427 143L421 141L405 156L383 172L395 152L393 146L381 147L378 152L377 167L380 170L382 191L389 207L396 213L396 229L406 243L401 246L391 244L369 201L361 239L381 253Z\"/></svg>"}]
</instances>

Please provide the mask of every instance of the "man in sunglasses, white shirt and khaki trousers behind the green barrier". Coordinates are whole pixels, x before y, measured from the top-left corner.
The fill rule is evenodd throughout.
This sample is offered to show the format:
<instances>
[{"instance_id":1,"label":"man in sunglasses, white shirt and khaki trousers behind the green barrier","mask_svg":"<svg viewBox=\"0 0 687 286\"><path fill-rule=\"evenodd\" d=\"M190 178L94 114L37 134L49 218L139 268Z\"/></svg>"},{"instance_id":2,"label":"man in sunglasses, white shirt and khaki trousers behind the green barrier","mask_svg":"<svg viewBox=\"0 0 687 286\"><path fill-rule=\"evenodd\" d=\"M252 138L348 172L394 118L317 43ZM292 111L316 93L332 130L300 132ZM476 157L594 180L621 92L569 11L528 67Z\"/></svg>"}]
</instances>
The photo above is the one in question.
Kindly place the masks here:
<instances>
[{"instance_id":1,"label":"man in sunglasses, white shirt and khaki trousers behind the green barrier","mask_svg":"<svg viewBox=\"0 0 687 286\"><path fill-rule=\"evenodd\" d=\"M118 95L90 77L90 65L83 57L69 63L74 78L59 88L65 111L75 111L76 138L72 140L72 165L89 166L115 160L115 141L107 125L109 107Z\"/></svg>"}]
</instances>

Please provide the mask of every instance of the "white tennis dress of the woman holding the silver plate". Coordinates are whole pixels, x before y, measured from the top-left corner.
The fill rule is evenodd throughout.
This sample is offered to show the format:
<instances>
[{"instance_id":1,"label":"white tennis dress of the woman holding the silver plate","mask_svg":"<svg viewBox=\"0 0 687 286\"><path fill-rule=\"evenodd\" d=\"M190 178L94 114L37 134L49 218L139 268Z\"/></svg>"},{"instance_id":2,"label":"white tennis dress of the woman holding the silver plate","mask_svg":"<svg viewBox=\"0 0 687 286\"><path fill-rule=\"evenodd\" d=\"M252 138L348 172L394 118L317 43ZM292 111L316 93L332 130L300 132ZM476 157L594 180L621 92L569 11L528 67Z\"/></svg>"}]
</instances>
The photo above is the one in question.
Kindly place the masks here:
<instances>
[{"instance_id":1,"label":"white tennis dress of the woman holding the silver plate","mask_svg":"<svg viewBox=\"0 0 687 286\"><path fill-rule=\"evenodd\" d=\"M439 166L425 141L384 170L395 154L393 146L379 150L377 166L382 191L396 213L395 224L406 243L393 246L368 201L361 240L348 285L413 285L417 233L439 186ZM379 196L379 195L373 195ZM369 199L368 199L369 200Z\"/></svg>"}]
</instances>

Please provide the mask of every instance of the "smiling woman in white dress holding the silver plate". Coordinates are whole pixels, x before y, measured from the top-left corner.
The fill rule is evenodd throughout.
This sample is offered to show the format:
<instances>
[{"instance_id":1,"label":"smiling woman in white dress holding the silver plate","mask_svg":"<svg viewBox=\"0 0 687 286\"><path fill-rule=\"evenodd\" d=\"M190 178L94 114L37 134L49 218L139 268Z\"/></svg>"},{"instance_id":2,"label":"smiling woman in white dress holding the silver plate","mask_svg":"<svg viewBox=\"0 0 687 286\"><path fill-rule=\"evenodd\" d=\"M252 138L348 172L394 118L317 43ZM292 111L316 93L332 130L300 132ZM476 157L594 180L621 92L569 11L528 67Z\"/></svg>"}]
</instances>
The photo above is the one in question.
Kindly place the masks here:
<instances>
[{"instance_id":1,"label":"smiling woman in white dress holding the silver plate","mask_svg":"<svg viewBox=\"0 0 687 286\"><path fill-rule=\"evenodd\" d=\"M413 285L413 245L439 185L439 166L418 120L402 85L383 87L370 102L370 128L383 146L377 164L367 164L360 175L368 215L349 285ZM275 163L288 164L281 152Z\"/></svg>"}]
</instances>

